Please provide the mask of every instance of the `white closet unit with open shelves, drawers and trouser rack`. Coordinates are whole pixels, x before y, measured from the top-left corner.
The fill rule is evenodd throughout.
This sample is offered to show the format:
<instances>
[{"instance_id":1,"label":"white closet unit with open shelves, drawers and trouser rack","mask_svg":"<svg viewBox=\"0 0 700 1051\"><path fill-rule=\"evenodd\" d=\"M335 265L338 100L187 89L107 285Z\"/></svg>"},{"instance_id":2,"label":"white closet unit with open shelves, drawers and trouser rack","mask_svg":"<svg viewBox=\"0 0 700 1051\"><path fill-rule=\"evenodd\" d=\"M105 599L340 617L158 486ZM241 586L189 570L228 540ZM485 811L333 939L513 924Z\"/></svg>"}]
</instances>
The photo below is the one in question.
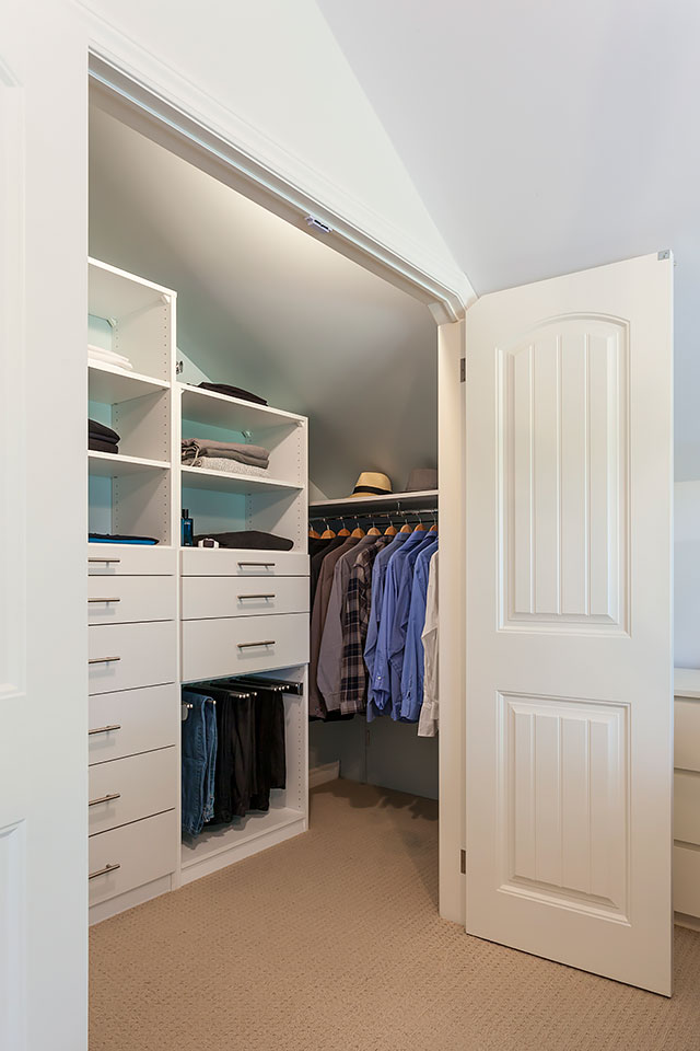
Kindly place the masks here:
<instances>
[{"instance_id":1,"label":"white closet unit with open shelves, drawers and trouser rack","mask_svg":"<svg viewBox=\"0 0 700 1051\"><path fill-rule=\"evenodd\" d=\"M96 921L306 829L307 420L177 382L176 293L95 259L90 261L89 274L89 343L125 355L133 366L128 370L97 360L88 366L89 416L120 436L117 454L88 454L90 530L144 534L159 541L152 547L88 545L91 577L101 578L90 592L91 642L95 657L105 657L102 663L91 665L91 723L119 724L115 740L109 735L103 738L100 726L93 730L97 737L90 738L91 779L95 785L114 781L119 788L118 775L126 776L135 765L144 778L142 792L131 783L125 789L130 809L125 807L124 823L118 817L120 801L114 818L109 812L104 820L102 811L97 815L104 831L91 836L91 869L98 875L90 882L91 917ZM249 475L184 466L182 438L264 446L270 452L269 471ZM182 507L189 509L197 533L260 530L291 540L293 548L180 552ZM237 610L234 615L215 615L214 598L220 601L222 589L229 593L231 581L250 576L265 578L270 591L276 589L269 580L279 580L279 612L272 605L259 615L240 615ZM302 683L303 690L284 694L287 787L272 792L269 811L206 829L180 845L182 668L200 616L188 613L187 603L183 605L184 578L198 581L197 593L203 596L205 615L210 617L207 623L219 633L215 639L221 639L213 647L210 639L203 659L201 646L195 644L190 650L203 672L199 681L207 675L267 671ZM250 589L249 581L243 580L238 590L246 587ZM115 611L120 614L127 609L127 620L115 616ZM244 612L250 613L249 605ZM158 644L159 659L167 669L159 672L159 683L163 674L172 677L172 682L150 685L152 661L143 640L155 634L167 642L166 647L162 640ZM260 644L255 639L262 637L277 639L277 648L266 645L256 650ZM164 749L174 749L175 762L165 763L163 754L159 759L164 771L176 771L175 776L158 774L155 761L148 760ZM147 759L135 764L137 754ZM164 785L163 777L171 782ZM163 798L172 808L155 813L155 802L149 799ZM114 870L113 863L117 864Z\"/></svg>"}]
</instances>

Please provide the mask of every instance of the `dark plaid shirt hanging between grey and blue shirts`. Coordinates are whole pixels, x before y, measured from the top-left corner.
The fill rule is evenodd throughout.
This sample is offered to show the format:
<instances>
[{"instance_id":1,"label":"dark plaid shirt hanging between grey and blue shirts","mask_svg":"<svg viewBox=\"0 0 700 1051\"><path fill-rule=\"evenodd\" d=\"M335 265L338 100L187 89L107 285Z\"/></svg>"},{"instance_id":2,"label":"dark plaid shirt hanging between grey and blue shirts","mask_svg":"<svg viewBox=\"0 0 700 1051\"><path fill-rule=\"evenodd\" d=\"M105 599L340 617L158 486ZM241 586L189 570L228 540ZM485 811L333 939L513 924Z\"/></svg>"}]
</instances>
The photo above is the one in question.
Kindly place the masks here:
<instances>
[{"instance_id":1,"label":"dark plaid shirt hanging between grey and blue shirts","mask_svg":"<svg viewBox=\"0 0 700 1051\"><path fill-rule=\"evenodd\" d=\"M368 671L364 644L372 605L372 566L389 540L382 536L376 544L358 555L346 590L342 608L342 657L340 665L340 711L343 715L364 712L368 703Z\"/></svg>"}]
</instances>

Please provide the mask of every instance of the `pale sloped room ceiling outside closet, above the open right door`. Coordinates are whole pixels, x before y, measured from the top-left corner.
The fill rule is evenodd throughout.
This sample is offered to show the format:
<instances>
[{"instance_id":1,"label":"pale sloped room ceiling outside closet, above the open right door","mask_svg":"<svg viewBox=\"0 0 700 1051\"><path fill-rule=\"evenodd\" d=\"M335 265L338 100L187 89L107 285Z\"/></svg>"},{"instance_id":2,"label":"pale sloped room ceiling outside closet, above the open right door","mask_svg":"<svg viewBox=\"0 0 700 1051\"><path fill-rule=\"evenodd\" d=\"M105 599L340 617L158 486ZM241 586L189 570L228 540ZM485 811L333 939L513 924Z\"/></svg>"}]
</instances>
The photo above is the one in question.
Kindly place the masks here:
<instances>
[{"instance_id":1,"label":"pale sloped room ceiling outside closet, above the open right door","mask_svg":"<svg viewBox=\"0 0 700 1051\"><path fill-rule=\"evenodd\" d=\"M700 4L318 0L477 293L674 250L700 477Z\"/></svg>"}]
</instances>

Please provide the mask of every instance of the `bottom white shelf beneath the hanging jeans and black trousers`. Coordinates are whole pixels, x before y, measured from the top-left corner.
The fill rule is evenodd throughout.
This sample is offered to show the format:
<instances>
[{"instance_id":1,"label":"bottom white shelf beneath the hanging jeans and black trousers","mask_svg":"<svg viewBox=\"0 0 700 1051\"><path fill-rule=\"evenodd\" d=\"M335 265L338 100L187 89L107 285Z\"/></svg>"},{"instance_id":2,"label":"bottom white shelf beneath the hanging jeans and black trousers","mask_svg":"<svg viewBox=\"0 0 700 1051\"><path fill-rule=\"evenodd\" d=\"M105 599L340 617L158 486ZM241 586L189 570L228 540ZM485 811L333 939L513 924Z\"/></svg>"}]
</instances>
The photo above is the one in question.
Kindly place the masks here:
<instances>
[{"instance_id":1,"label":"bottom white shelf beneath the hanging jeans and black trousers","mask_svg":"<svg viewBox=\"0 0 700 1051\"><path fill-rule=\"evenodd\" d=\"M244 818L236 818L234 824L218 825L203 831L196 840L188 836L183 841L182 848L183 881L188 882L189 879L203 875L203 873L188 874L188 870L195 866L203 865L230 852L241 852L245 856L253 853L246 847L255 840L261 836L272 839L276 833L283 833L285 829L303 824L304 820L304 813L301 810L292 810L291 807L271 807L267 813L247 813ZM284 838L281 835L280 842ZM220 859L220 865L214 862L208 868L213 871L218 867L231 864L232 861L234 858L223 857Z\"/></svg>"}]
</instances>

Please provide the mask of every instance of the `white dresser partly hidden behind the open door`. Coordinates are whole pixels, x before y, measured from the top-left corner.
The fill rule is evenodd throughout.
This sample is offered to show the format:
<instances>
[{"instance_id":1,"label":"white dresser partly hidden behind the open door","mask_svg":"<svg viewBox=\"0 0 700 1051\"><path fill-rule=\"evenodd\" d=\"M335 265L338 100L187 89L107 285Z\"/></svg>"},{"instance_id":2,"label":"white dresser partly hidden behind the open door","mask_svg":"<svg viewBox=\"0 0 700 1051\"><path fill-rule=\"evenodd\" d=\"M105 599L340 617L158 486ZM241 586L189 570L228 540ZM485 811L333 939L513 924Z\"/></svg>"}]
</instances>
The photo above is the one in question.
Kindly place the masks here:
<instances>
[{"instance_id":1,"label":"white dresser partly hidden behind the open door","mask_svg":"<svg viewBox=\"0 0 700 1051\"><path fill-rule=\"evenodd\" d=\"M676 669L674 909L700 916L700 671Z\"/></svg>"}]
</instances>

